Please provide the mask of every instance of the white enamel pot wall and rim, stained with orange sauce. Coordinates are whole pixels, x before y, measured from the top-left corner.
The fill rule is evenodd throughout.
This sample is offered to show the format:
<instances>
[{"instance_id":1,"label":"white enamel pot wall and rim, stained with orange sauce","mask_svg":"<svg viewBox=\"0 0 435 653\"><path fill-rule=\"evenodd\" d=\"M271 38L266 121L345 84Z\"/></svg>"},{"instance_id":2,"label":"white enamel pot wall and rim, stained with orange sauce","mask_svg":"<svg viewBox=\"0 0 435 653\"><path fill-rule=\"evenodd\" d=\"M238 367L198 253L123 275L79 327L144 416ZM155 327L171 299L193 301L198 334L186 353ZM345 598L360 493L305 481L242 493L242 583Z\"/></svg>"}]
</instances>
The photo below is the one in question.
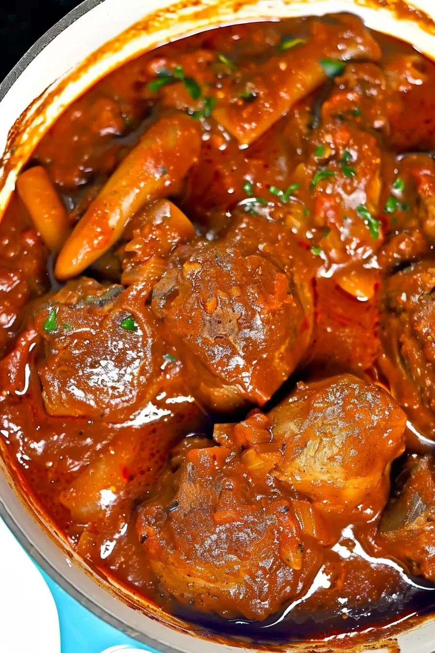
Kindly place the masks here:
<instances>
[{"instance_id":1,"label":"white enamel pot wall and rim, stained with orange sauce","mask_svg":"<svg viewBox=\"0 0 435 653\"><path fill-rule=\"evenodd\" d=\"M228 22L351 11L368 26L406 40L435 59L435 0L85 0L25 54L0 85L0 217L16 177L37 142L85 89L155 44ZM427 19L412 9L426 12ZM254 650L207 639L155 608L134 609L95 580L67 545L48 531L31 497L23 496L0 460L0 514L23 547L53 579L113 626L158 651L234 653ZM385 633L386 634L386 633ZM205 637L205 639L204 639ZM380 631L379 637L382 637ZM380 639L365 650L380 650ZM421 622L384 651L433 653L435 620ZM280 650L334 650L286 646ZM263 650L263 648L262 648ZM276 650L271 648L271 650ZM343 648L337 648L343 651ZM361 650L361 649L360 649Z\"/></svg>"}]
</instances>

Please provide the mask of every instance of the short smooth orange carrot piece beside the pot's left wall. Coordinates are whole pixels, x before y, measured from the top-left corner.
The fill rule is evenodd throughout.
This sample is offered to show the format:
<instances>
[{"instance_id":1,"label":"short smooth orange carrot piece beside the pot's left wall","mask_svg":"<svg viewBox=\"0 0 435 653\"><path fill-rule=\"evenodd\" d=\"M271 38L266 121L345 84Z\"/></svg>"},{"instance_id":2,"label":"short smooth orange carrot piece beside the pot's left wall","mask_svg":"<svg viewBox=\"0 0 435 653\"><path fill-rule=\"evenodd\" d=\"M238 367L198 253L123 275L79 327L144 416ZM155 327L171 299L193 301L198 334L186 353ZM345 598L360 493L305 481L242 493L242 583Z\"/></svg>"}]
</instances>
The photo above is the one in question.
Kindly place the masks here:
<instances>
[{"instance_id":1,"label":"short smooth orange carrot piece beside the pot's left wall","mask_svg":"<svg viewBox=\"0 0 435 653\"><path fill-rule=\"evenodd\" d=\"M44 243L59 251L68 236L68 215L46 170L29 168L18 177L16 187Z\"/></svg>"}]
</instances>

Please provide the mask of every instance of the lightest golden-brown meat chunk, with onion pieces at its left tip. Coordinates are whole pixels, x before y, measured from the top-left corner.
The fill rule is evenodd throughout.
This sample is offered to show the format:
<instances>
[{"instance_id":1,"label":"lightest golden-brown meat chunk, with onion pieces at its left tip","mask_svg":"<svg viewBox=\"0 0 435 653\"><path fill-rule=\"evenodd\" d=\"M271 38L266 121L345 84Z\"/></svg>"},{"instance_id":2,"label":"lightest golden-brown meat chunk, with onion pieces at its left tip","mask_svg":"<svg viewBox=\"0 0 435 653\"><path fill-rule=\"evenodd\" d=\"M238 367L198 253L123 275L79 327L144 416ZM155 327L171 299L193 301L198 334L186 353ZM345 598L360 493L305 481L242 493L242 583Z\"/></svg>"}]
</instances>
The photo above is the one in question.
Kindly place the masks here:
<instances>
[{"instance_id":1,"label":"lightest golden-brown meat chunk, with onion pieces at its left tip","mask_svg":"<svg viewBox=\"0 0 435 653\"><path fill-rule=\"evenodd\" d=\"M333 513L336 524L369 521L383 508L406 424L385 390L350 374L301 382L262 417L215 438L245 449L256 470Z\"/></svg>"}]
</instances>

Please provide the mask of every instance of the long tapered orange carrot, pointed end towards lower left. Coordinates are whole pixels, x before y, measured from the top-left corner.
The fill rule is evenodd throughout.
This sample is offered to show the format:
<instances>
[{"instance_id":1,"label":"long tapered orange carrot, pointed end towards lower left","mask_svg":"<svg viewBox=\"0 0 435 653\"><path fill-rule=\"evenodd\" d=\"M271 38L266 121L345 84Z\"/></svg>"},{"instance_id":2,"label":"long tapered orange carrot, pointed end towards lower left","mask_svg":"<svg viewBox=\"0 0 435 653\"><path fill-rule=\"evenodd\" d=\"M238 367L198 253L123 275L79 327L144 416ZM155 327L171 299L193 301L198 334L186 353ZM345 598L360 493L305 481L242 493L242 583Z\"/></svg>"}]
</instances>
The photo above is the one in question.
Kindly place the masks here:
<instances>
[{"instance_id":1,"label":"long tapered orange carrot, pointed end towards lower left","mask_svg":"<svg viewBox=\"0 0 435 653\"><path fill-rule=\"evenodd\" d=\"M55 266L57 278L83 272L119 239L142 204L173 192L198 159L200 147L198 125L187 114L164 116L150 127L65 242Z\"/></svg>"}]
</instances>

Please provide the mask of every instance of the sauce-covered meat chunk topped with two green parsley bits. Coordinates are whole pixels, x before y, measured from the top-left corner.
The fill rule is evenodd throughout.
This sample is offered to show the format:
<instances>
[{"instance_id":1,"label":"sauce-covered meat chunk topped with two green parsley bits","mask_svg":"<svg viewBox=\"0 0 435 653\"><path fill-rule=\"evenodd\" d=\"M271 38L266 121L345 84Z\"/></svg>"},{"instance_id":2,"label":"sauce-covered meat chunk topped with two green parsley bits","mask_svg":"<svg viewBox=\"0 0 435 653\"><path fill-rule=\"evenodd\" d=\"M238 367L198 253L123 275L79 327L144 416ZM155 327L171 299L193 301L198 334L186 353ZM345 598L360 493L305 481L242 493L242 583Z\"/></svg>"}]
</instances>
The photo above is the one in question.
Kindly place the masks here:
<instances>
[{"instance_id":1,"label":"sauce-covered meat chunk topped with two green parsley bits","mask_svg":"<svg viewBox=\"0 0 435 653\"><path fill-rule=\"evenodd\" d=\"M153 316L129 298L122 286L81 278L37 311L38 374L50 415L122 421L158 383Z\"/></svg>"}]
</instances>

